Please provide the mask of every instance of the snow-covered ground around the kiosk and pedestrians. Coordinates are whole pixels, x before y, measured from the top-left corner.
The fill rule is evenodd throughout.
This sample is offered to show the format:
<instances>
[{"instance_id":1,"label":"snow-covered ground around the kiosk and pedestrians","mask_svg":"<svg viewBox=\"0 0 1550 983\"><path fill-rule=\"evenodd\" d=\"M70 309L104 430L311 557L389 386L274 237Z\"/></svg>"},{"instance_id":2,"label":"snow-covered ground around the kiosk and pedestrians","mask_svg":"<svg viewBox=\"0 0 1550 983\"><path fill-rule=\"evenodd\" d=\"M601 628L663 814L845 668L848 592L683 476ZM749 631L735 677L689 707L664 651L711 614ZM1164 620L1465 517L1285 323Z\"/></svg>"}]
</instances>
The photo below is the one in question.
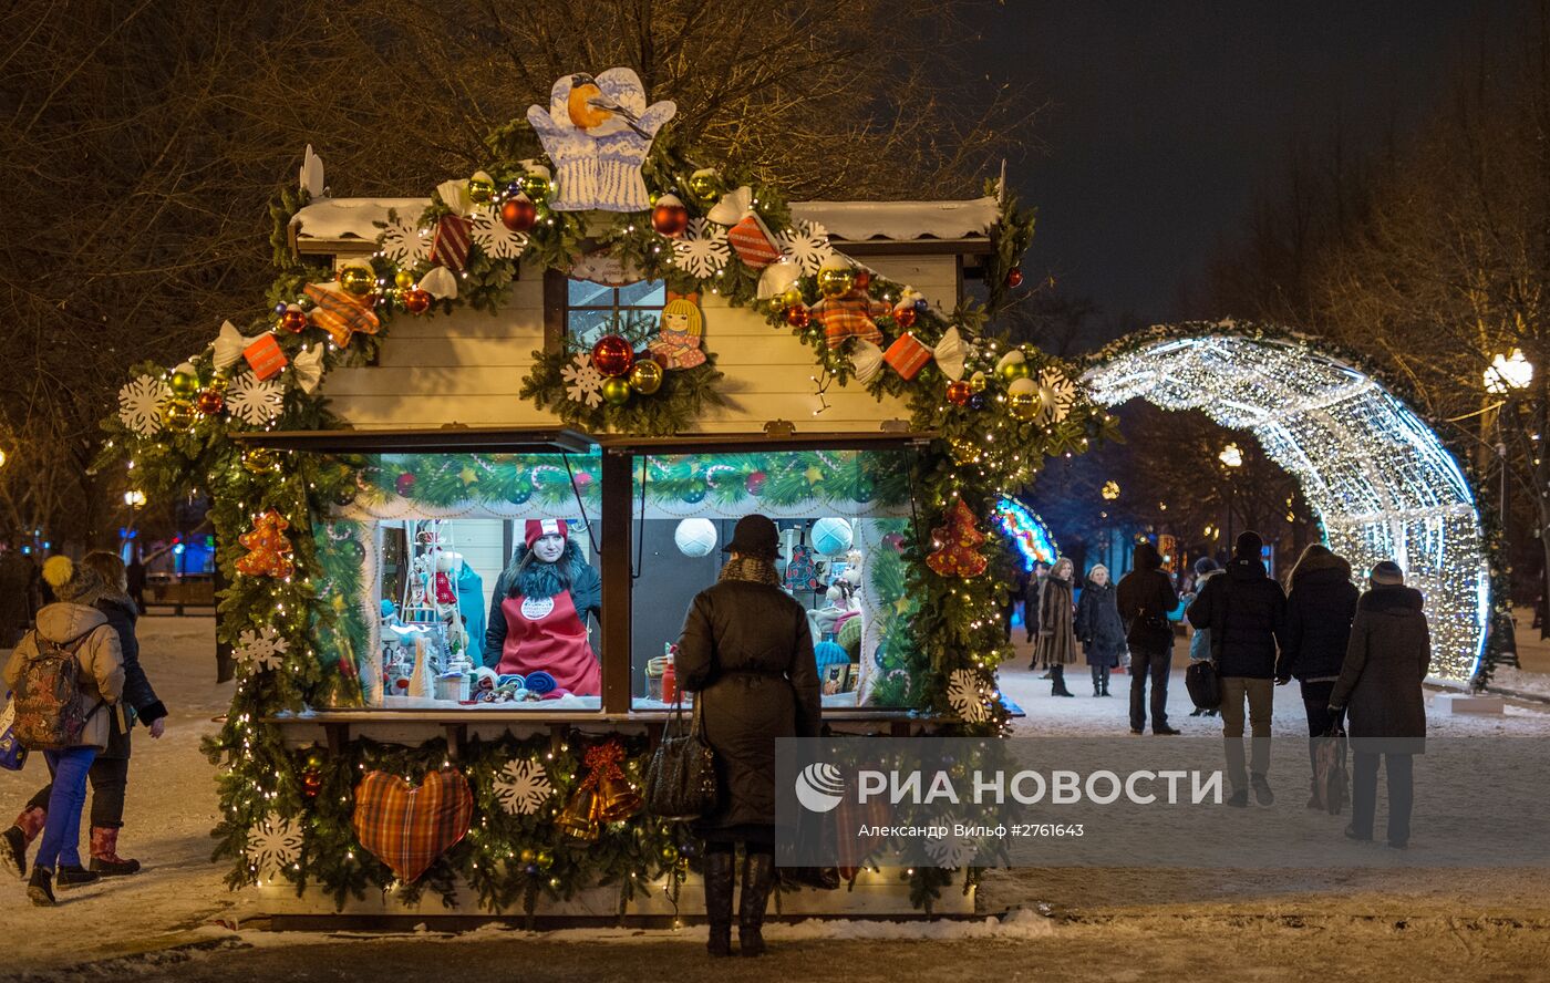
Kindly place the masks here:
<instances>
[{"instance_id":1,"label":"snow-covered ground around the kiosk and pedestrians","mask_svg":"<svg viewBox=\"0 0 1550 983\"><path fill-rule=\"evenodd\" d=\"M78 978L65 967L121 960L99 969L189 981L245 975L403 977L417 964L448 978L521 975L632 983L648 972L682 980L786 977L846 983L925 974L1170 981L1308 975L1547 978L1550 876L1542 868L1366 868L1359 862L1318 868L1144 868L1127 867L1130 857L1122 850L1107 867L992 871L980 890L980 909L986 915L1025 909L1004 921L773 926L769 936L777 952L760 963L705 963L699 949L704 929L696 927L552 935L485 929L465 936L420 933L375 941L240 929L253 910L245 896L222 884L225 865L209 862L215 794L212 769L198 752L200 738L215 730L214 718L229 696L229 684L211 682L212 634L209 619L143 622L143 657L172 710L164 740L138 735L135 744L121 845L122 853L146 864L146 871L65 895L65 904L54 910L33 909L20 882L0 882L0 977L42 971ZM1028 712L1018 723L1021 735L1090 738L1116 749L1161 741L1128 735L1128 678L1116 676L1114 696L1094 699L1085 667L1077 667L1071 676L1077 696L1059 699L1026 668L1009 668L1003 678L1006 692ZM1294 687L1277 692L1277 741L1300 740L1304 733L1294 696ZM1215 732L1217 721L1189 716L1181 668L1170 690L1170 713L1187 733ZM1550 705L1514 701L1504 716L1434 716L1431 724L1438 738L1550 740ZM0 822L20 808L42 774L37 764L22 775L0 772L0 806L9 809ZM1276 808L1300 811L1302 802L1286 794ZM1327 819L1338 837L1341 820L1318 819ZM1547 816L1539 811L1480 819L1539 828ZM1420 830L1417 839L1424 839ZM234 924L240 930L229 927Z\"/></svg>"}]
</instances>

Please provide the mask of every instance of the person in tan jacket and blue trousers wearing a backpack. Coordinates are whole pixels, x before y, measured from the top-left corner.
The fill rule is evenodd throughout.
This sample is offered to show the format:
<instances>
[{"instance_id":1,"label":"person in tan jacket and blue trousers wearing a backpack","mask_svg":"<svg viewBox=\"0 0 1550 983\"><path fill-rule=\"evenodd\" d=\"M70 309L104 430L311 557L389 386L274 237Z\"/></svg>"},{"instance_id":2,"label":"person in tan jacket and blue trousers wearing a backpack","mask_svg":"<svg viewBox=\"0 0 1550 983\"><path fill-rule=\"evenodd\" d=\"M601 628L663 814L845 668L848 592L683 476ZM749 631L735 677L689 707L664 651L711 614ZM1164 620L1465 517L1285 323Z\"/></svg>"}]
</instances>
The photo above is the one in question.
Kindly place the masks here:
<instances>
[{"instance_id":1,"label":"person in tan jacket and blue trousers wearing a backpack","mask_svg":"<svg viewBox=\"0 0 1550 983\"><path fill-rule=\"evenodd\" d=\"M46 684L48 679L34 674L34 667L37 674L46 674L51 665L59 665L54 661L59 650L74 656L74 664L67 661L65 667L79 670L85 726L73 743L43 750L54 785L43 840L26 885L33 904L53 905L56 887L81 887L93 884L99 876L81 867L81 809L87 800L87 772L98 752L107 747L113 704L124 692L124 657L118 633L108 625L107 616L93 606L105 588L96 571L71 563L68 557L50 557L43 564L43 580L59 600L37 612L37 629L23 637L11 653L5 682L12 690L23 678L31 678L37 685ZM46 701L40 699L39 704ZM42 726L51 726L46 715L40 719ZM57 719L56 707L53 721Z\"/></svg>"}]
</instances>

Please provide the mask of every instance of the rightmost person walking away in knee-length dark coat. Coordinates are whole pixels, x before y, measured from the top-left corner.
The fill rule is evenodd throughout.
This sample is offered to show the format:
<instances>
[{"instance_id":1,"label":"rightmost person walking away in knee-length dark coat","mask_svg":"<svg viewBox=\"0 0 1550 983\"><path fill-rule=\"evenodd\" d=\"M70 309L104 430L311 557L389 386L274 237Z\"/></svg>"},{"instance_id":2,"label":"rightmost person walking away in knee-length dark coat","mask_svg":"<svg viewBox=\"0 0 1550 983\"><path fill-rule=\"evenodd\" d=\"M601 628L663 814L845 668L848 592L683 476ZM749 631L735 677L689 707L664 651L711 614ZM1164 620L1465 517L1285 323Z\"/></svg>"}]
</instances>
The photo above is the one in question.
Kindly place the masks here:
<instances>
[{"instance_id":1,"label":"rightmost person walking away in knee-length dark coat","mask_svg":"<svg viewBox=\"0 0 1550 983\"><path fill-rule=\"evenodd\" d=\"M1356 603L1350 645L1330 696L1330 713L1350 713L1352 823L1345 836L1370 840L1378 809L1378 760L1389 777L1389 845L1410 843L1414 755L1426 752L1426 698L1432 640L1421 592L1404 586L1400 564L1372 567L1372 589Z\"/></svg>"}]
</instances>

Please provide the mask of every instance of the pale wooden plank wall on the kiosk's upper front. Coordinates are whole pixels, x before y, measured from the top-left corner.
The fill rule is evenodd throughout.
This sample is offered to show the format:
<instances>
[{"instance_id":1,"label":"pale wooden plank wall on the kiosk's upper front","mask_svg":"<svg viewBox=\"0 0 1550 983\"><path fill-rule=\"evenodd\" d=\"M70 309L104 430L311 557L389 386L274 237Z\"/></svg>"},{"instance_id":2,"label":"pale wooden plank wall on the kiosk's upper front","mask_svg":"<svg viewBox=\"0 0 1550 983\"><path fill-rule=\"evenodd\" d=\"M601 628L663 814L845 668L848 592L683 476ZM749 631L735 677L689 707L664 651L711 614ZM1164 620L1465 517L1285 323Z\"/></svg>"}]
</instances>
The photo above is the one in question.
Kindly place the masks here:
<instances>
[{"instance_id":1,"label":"pale wooden plank wall on the kiosk's upper front","mask_svg":"<svg viewBox=\"0 0 1550 983\"><path fill-rule=\"evenodd\" d=\"M956 304L952 256L874 259L868 265L908 284L950 312ZM544 344L542 271L524 267L507 305L496 315L459 307L451 315L400 315L377 366L329 374L324 395L332 409L360 428L542 426L555 419L518 395ZM800 431L876 431L882 420L908 419L902 400L879 403L862 386L831 385L822 406L812 377L814 352L763 316L702 296L705 347L725 374L728 405L713 411L699 433L756 431L784 419ZM890 371L890 369L884 369ZM476 569L479 569L476 566ZM484 574L484 571L480 571Z\"/></svg>"}]
</instances>

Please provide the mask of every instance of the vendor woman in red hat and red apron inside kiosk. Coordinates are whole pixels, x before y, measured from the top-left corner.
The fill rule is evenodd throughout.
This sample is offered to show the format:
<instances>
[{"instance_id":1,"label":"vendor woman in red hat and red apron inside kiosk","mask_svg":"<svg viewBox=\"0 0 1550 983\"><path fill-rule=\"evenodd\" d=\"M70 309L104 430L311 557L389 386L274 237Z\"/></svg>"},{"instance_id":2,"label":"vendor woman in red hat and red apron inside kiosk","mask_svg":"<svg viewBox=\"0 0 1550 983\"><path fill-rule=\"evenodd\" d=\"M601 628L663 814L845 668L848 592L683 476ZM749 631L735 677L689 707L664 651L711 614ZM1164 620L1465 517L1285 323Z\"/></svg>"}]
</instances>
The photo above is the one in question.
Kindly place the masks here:
<instances>
[{"instance_id":1,"label":"vendor woman in red hat and red apron inside kiosk","mask_svg":"<svg viewBox=\"0 0 1550 983\"><path fill-rule=\"evenodd\" d=\"M598 696L603 676L586 617L603 606L603 581L567 536L564 519L527 519L490 603L485 665L501 674L546 671L555 693Z\"/></svg>"}]
</instances>

